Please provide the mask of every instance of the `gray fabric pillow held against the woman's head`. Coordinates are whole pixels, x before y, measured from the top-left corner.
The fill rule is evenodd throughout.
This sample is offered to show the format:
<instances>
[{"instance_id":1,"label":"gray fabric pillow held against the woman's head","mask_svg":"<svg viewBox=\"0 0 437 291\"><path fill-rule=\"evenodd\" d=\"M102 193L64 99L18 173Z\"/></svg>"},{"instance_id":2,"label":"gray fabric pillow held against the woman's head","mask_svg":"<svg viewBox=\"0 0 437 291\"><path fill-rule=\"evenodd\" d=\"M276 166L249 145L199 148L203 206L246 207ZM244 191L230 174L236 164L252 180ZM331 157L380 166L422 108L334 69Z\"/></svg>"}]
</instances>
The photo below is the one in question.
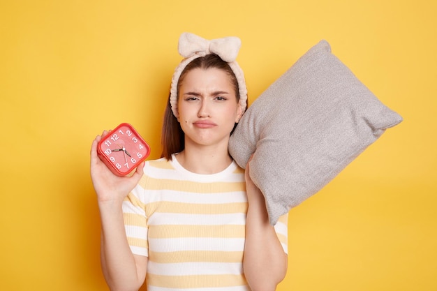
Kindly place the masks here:
<instances>
[{"instance_id":1,"label":"gray fabric pillow held against the woman's head","mask_svg":"<svg viewBox=\"0 0 437 291\"><path fill-rule=\"evenodd\" d=\"M401 121L321 40L253 102L229 151L243 168L254 153L251 179L274 225Z\"/></svg>"}]
</instances>

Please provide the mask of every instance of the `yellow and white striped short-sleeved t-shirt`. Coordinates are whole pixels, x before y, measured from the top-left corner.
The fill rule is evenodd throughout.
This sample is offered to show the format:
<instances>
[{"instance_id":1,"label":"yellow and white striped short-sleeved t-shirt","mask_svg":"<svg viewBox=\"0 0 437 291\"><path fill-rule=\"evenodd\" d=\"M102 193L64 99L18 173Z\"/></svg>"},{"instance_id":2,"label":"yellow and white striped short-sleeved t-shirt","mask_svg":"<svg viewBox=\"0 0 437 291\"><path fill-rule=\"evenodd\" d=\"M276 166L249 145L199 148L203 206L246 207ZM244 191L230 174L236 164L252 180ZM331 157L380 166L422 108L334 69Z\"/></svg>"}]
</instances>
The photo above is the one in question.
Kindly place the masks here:
<instances>
[{"instance_id":1,"label":"yellow and white striped short-sleeved t-shirt","mask_svg":"<svg viewBox=\"0 0 437 291\"><path fill-rule=\"evenodd\" d=\"M148 256L148 291L248 291L243 274L244 170L188 172L177 162L148 161L123 203L131 251ZM275 225L287 253L287 215Z\"/></svg>"}]
</instances>

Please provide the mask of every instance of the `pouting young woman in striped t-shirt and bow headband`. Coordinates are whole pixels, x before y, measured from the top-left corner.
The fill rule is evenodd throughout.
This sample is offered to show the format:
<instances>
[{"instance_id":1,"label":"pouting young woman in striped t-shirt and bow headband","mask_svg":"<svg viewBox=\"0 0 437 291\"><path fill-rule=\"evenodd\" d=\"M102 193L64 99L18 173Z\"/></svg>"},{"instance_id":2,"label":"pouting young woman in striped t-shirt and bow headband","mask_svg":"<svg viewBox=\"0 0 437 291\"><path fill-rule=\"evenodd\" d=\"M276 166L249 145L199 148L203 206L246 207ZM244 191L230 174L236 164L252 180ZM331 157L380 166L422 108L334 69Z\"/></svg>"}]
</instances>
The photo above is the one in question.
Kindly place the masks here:
<instances>
[{"instance_id":1,"label":"pouting young woman in striped t-shirt and bow headband","mask_svg":"<svg viewBox=\"0 0 437 291\"><path fill-rule=\"evenodd\" d=\"M163 125L163 158L117 177L91 147L101 212L101 262L111 290L275 290L287 269L287 217L228 154L246 109L238 38L179 39ZM102 136L108 134L104 131Z\"/></svg>"}]
</instances>

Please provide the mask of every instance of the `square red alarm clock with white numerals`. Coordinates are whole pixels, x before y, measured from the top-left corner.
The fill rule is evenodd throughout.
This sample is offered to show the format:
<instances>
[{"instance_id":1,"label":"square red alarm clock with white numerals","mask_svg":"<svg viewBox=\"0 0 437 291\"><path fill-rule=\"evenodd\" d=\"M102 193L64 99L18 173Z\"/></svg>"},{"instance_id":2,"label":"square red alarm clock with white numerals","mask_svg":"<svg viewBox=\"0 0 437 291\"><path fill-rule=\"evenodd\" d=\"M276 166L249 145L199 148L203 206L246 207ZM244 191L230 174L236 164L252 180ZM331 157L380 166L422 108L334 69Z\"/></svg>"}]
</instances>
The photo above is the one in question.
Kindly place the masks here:
<instances>
[{"instance_id":1,"label":"square red alarm clock with white numerals","mask_svg":"<svg viewBox=\"0 0 437 291\"><path fill-rule=\"evenodd\" d=\"M131 124L124 123L98 142L97 154L114 174L126 176L145 161L150 147Z\"/></svg>"}]
</instances>

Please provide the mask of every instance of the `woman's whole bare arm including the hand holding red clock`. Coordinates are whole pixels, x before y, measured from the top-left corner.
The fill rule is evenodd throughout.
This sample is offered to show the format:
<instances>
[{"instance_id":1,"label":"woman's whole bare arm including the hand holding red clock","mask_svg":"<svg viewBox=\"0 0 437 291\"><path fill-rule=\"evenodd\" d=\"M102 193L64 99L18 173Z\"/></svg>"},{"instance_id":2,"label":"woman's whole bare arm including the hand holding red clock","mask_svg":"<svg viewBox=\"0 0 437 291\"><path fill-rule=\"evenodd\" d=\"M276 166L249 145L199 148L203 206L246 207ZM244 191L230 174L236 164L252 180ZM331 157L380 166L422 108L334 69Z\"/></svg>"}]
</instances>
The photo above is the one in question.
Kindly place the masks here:
<instances>
[{"instance_id":1,"label":"woman's whole bare arm including the hand holding red clock","mask_svg":"<svg viewBox=\"0 0 437 291\"><path fill-rule=\"evenodd\" d=\"M108 134L103 132L103 136ZM147 257L133 255L124 230L121 204L138 184L144 163L131 177L117 177L97 156L97 136L91 146L91 179L101 214L101 264L110 290L138 290L145 281Z\"/></svg>"}]
</instances>

